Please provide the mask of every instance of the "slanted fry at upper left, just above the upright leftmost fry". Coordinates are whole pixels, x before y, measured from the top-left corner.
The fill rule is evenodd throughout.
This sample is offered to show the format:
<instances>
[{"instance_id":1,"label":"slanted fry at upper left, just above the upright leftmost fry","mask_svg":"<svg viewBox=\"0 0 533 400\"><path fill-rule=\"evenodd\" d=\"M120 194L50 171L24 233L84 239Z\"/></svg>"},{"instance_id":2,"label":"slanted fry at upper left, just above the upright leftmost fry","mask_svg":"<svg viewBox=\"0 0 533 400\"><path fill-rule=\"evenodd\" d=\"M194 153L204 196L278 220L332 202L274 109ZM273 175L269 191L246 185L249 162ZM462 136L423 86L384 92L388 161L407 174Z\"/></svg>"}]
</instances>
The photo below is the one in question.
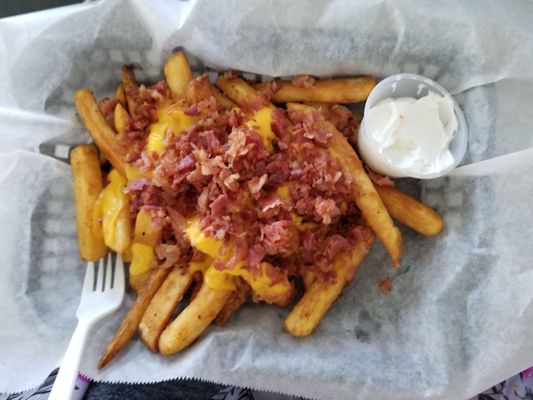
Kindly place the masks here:
<instances>
[{"instance_id":1,"label":"slanted fry at upper left, just above the upright leftmost fry","mask_svg":"<svg viewBox=\"0 0 533 400\"><path fill-rule=\"evenodd\" d=\"M117 142L115 132L106 123L90 90L80 89L76 92L76 108L100 151L121 175L126 176L125 150Z\"/></svg>"}]
</instances>

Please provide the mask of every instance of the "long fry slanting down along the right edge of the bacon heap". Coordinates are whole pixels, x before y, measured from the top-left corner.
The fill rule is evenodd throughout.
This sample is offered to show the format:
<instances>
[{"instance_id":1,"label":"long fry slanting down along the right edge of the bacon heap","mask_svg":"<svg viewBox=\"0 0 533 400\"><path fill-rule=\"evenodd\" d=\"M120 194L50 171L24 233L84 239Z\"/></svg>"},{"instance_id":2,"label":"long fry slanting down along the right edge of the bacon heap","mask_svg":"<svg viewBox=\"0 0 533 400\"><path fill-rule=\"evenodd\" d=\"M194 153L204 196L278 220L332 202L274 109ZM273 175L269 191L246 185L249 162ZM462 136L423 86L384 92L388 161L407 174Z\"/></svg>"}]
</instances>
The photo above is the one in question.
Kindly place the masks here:
<instances>
[{"instance_id":1,"label":"long fry slanting down along the right edge of the bacon heap","mask_svg":"<svg viewBox=\"0 0 533 400\"><path fill-rule=\"evenodd\" d=\"M310 113L315 109L298 103L288 103L289 112ZM320 121L320 127L331 133L329 153L336 158L342 169L352 180L352 198L357 204L366 223L372 228L389 253L393 267L400 265L402 236L379 197L374 184L368 177L363 164L346 138L330 122Z\"/></svg>"}]
</instances>

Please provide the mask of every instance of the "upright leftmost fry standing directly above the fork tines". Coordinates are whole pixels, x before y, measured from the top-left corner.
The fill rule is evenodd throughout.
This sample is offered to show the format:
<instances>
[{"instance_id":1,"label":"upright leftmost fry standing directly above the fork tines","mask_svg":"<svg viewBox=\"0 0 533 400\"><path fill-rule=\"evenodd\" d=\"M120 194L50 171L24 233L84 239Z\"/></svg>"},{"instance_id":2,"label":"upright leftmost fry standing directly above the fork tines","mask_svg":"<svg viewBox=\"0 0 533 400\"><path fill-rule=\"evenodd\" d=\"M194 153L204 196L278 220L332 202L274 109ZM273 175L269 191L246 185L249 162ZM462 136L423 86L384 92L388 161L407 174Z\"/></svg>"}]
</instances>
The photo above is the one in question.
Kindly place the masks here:
<instances>
[{"instance_id":1,"label":"upright leftmost fry standing directly above the fork tines","mask_svg":"<svg viewBox=\"0 0 533 400\"><path fill-rule=\"evenodd\" d=\"M93 208L103 189L98 150L94 145L76 146L70 152L76 196L76 226L80 257L96 261L107 254L101 227L93 224Z\"/></svg>"}]
</instances>

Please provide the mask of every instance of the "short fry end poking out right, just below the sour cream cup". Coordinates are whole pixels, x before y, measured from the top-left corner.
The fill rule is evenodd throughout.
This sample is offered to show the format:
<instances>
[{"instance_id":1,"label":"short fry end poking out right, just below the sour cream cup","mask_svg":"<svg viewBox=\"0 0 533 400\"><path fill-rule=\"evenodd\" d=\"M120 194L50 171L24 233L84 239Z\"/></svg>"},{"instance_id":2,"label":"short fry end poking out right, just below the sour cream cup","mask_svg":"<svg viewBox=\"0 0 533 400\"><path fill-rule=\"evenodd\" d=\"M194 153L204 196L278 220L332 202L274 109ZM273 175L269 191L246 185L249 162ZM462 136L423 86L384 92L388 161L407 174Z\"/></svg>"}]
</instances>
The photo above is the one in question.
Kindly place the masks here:
<instances>
[{"instance_id":1,"label":"short fry end poking out right, just below the sour cream cup","mask_svg":"<svg viewBox=\"0 0 533 400\"><path fill-rule=\"evenodd\" d=\"M390 215L425 236L437 235L443 227L441 216L432 208L392 186L376 185Z\"/></svg>"}]
</instances>

